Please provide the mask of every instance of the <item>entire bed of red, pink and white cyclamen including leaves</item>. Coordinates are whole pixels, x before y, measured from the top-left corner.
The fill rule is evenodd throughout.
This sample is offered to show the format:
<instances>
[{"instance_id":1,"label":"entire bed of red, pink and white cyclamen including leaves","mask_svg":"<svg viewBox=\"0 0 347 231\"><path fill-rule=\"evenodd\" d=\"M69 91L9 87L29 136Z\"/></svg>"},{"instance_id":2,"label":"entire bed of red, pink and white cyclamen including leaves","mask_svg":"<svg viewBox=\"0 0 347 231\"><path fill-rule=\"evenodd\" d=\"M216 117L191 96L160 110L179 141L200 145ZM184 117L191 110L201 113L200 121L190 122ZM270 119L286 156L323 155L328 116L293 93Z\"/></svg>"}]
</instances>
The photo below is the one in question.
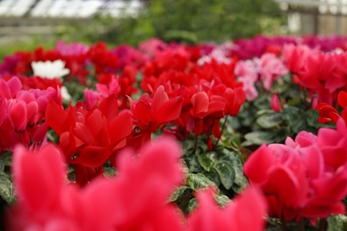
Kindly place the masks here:
<instances>
[{"instance_id":1,"label":"entire bed of red, pink and white cyclamen including leaves","mask_svg":"<svg viewBox=\"0 0 347 231\"><path fill-rule=\"evenodd\" d=\"M8 228L262 230L277 218L303 229L345 213L346 44L153 38L6 57Z\"/></svg>"}]
</instances>

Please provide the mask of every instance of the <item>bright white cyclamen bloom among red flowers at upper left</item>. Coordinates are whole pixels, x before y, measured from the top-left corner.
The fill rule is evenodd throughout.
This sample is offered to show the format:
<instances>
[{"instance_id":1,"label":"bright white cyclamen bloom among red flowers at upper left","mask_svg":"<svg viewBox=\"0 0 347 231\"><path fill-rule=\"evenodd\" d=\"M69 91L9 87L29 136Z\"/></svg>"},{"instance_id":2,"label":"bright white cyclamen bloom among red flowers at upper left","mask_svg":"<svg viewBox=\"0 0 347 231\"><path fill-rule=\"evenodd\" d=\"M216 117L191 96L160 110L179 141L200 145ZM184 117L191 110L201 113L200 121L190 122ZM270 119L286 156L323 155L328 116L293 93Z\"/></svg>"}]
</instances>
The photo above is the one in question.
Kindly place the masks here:
<instances>
[{"instance_id":1,"label":"bright white cyclamen bloom among red flowers at upper left","mask_svg":"<svg viewBox=\"0 0 347 231\"><path fill-rule=\"evenodd\" d=\"M34 76L40 76L43 78L61 78L70 73L68 68L65 68L65 62L62 60L54 61L33 61L31 67L34 71Z\"/></svg>"}]
</instances>

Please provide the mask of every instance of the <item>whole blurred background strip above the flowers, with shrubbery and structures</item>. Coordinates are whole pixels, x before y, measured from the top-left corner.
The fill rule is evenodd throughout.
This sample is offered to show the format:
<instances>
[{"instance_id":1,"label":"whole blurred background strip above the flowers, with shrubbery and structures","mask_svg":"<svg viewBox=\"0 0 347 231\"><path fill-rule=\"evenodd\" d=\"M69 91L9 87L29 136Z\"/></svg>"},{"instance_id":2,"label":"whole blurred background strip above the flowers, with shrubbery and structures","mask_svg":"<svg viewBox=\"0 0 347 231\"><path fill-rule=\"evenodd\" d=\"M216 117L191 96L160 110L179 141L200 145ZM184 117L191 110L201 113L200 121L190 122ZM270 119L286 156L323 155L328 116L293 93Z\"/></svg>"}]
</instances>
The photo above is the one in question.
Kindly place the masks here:
<instances>
[{"instance_id":1,"label":"whole blurred background strip above the flowers, with shrubbery and structures","mask_svg":"<svg viewBox=\"0 0 347 231\"><path fill-rule=\"evenodd\" d=\"M347 0L0 0L0 61L58 40L109 46L347 34Z\"/></svg>"}]
</instances>

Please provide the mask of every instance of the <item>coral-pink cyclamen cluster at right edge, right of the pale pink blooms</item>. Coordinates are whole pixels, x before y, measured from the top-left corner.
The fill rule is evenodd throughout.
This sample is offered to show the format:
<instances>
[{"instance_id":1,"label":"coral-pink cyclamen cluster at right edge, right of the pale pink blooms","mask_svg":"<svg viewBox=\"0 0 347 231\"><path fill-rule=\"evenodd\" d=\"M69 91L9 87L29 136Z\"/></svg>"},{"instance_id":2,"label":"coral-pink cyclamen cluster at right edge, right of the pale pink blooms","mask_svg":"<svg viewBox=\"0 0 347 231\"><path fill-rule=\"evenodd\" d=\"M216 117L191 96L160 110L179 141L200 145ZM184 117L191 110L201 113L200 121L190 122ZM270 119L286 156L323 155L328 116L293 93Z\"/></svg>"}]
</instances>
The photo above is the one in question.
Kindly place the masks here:
<instances>
[{"instance_id":1,"label":"coral-pink cyclamen cluster at right edge, right of the pale pink blooms","mask_svg":"<svg viewBox=\"0 0 347 231\"><path fill-rule=\"evenodd\" d=\"M295 81L308 90L313 108L321 102L333 105L337 93L346 90L346 52L327 53L305 45L287 45L284 57Z\"/></svg>"}]
</instances>

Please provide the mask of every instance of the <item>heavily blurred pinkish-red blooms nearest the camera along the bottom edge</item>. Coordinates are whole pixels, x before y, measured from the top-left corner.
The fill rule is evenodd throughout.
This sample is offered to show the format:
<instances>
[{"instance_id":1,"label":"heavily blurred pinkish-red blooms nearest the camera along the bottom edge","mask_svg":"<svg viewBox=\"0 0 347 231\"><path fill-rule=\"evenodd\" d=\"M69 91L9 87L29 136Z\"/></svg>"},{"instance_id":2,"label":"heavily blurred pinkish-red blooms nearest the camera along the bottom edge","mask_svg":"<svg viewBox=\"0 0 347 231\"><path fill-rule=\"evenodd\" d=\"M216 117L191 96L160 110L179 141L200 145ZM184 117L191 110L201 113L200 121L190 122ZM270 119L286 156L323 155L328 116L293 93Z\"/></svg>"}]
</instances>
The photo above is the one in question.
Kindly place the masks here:
<instances>
[{"instance_id":1,"label":"heavily blurred pinkish-red blooms nearest the camera along the bottom edge","mask_svg":"<svg viewBox=\"0 0 347 231\"><path fill-rule=\"evenodd\" d=\"M187 219L167 197L182 183L181 149L172 139L147 145L140 156L125 151L117 177L86 187L68 185L57 147L35 153L18 147L13 177L18 202L7 211L9 230L262 230L266 205L249 188L225 208L211 191L198 193L198 209ZM141 176L141 177L139 177ZM252 222L249 218L252 217Z\"/></svg>"}]
</instances>

